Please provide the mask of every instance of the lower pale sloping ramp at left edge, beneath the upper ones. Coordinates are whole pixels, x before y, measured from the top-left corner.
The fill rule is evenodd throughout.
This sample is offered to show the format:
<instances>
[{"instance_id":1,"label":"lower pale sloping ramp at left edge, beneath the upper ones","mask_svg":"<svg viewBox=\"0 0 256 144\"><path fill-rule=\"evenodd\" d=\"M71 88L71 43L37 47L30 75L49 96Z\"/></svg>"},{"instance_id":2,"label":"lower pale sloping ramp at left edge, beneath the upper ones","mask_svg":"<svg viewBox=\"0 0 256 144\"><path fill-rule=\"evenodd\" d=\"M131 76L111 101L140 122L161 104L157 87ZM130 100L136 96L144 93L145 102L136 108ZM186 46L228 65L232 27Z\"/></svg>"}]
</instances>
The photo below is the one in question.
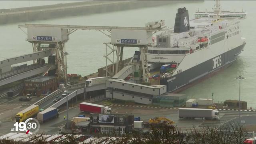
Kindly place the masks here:
<instances>
[{"instance_id":1,"label":"lower pale sloping ramp at left edge, beneath the upper ones","mask_svg":"<svg viewBox=\"0 0 256 144\"><path fill-rule=\"evenodd\" d=\"M30 76L35 76L37 74L42 74L42 73L44 73L44 72L46 72L50 69L51 70L55 69L55 67L56 66L51 66L51 65L45 64L45 65L42 65L42 67L35 68L33 70L29 70L29 71L26 71L26 72L16 74L14 76L4 78L4 79L0 80L0 86L3 86L5 84L9 84L11 82L16 82L17 80L22 80L22 79L28 78Z\"/></svg>"}]
</instances>

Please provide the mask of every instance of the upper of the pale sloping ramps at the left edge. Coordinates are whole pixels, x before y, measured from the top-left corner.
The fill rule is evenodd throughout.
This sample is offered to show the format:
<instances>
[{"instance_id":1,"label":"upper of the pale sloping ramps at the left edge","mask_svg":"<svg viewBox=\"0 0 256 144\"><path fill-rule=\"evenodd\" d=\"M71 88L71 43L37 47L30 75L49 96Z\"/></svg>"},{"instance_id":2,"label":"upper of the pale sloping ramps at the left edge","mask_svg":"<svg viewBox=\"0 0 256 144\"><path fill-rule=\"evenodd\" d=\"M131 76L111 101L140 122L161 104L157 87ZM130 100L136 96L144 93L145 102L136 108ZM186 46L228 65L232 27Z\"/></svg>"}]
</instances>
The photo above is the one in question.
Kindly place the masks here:
<instances>
[{"instance_id":1,"label":"upper of the pale sloping ramps at the left edge","mask_svg":"<svg viewBox=\"0 0 256 144\"><path fill-rule=\"evenodd\" d=\"M10 66L12 64L19 64L22 62L27 62L30 60L36 60L38 58L45 58L48 56L53 55L55 52L52 50L42 50L42 51L38 51L38 52L32 52L29 54L24 54L21 56L16 56L13 58L8 58L6 60L2 60L0 61L0 68L3 68L5 66Z\"/></svg>"}]
</instances>

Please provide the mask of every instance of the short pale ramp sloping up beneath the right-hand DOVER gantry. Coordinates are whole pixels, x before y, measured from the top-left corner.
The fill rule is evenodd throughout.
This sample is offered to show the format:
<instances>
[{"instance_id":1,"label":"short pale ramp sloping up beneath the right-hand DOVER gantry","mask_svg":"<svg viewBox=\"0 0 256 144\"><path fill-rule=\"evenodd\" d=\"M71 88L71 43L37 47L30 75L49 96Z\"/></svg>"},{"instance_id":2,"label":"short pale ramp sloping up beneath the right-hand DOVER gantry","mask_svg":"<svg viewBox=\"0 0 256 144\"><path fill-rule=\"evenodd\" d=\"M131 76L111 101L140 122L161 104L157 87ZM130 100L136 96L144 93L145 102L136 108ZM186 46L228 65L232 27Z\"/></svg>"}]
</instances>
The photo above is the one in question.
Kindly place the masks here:
<instances>
[{"instance_id":1,"label":"short pale ramp sloping up beneath the right-hand DOVER gantry","mask_svg":"<svg viewBox=\"0 0 256 144\"><path fill-rule=\"evenodd\" d=\"M133 73L136 70L136 65L128 65L122 70L120 70L117 74L115 74L112 78L114 79L125 79L129 74Z\"/></svg>"}]
</instances>

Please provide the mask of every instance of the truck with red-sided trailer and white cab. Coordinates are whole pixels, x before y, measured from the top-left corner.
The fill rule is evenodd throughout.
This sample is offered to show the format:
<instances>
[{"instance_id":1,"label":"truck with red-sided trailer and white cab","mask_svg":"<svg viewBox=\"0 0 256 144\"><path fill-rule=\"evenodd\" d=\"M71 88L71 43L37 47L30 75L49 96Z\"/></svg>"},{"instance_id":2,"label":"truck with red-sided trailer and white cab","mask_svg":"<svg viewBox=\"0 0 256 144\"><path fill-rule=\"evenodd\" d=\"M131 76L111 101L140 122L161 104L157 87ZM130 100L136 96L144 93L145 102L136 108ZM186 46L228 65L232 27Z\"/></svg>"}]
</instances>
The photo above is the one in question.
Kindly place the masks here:
<instances>
[{"instance_id":1,"label":"truck with red-sided trailer and white cab","mask_svg":"<svg viewBox=\"0 0 256 144\"><path fill-rule=\"evenodd\" d=\"M80 103L80 111L84 111L86 113L98 113L98 114L110 114L111 108L108 106L103 106L99 104L92 104L88 102L81 102Z\"/></svg>"}]
</instances>

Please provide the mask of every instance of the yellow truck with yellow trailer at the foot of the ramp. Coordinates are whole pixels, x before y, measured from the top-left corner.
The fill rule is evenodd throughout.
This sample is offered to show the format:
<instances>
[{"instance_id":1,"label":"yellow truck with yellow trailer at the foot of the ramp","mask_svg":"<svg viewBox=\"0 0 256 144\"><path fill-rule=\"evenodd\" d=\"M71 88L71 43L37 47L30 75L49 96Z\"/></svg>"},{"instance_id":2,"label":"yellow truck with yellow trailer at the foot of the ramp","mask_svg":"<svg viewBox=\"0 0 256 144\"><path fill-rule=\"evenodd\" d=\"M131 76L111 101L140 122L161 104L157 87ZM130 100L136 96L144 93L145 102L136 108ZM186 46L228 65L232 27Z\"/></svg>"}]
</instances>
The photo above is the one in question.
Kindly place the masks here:
<instances>
[{"instance_id":1,"label":"yellow truck with yellow trailer at the foot of the ramp","mask_svg":"<svg viewBox=\"0 0 256 144\"><path fill-rule=\"evenodd\" d=\"M31 105L28 108L18 112L15 116L16 122L24 122L26 119L31 118L39 112L38 105Z\"/></svg>"}]
</instances>

